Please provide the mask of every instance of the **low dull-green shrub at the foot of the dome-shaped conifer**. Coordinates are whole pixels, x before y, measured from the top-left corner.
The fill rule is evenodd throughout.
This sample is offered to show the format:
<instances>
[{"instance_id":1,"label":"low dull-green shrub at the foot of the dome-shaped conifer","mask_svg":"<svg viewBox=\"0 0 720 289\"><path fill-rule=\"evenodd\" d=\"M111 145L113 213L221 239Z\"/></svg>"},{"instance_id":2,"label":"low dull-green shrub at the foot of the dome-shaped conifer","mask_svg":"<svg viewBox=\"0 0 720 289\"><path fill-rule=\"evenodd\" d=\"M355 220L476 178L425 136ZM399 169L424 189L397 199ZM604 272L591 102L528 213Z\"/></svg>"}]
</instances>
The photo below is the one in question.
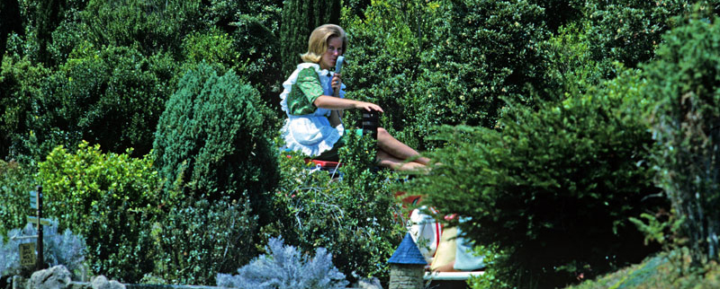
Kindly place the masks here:
<instances>
[{"instance_id":1,"label":"low dull-green shrub at the foot of the dome-shaped conifer","mask_svg":"<svg viewBox=\"0 0 720 289\"><path fill-rule=\"evenodd\" d=\"M149 232L159 246L153 274L170 284L213 285L218 273L257 256L257 216L244 199L188 197L172 204Z\"/></svg>"}]
</instances>

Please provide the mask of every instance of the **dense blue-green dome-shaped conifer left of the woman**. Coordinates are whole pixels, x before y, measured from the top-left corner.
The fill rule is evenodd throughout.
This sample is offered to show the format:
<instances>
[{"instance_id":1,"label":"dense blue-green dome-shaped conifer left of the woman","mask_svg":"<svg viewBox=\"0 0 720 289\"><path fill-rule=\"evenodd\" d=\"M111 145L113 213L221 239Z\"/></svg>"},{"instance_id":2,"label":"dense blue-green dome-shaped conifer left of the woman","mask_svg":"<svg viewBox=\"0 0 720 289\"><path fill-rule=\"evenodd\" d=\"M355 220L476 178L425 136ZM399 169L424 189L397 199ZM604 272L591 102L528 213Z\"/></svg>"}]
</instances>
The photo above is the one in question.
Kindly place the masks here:
<instances>
[{"instance_id":1,"label":"dense blue-green dome-shaped conifer left of the woman","mask_svg":"<svg viewBox=\"0 0 720 289\"><path fill-rule=\"evenodd\" d=\"M156 168L166 188L182 180L188 197L249 197L256 214L271 215L266 192L278 178L269 139L274 124L256 90L232 71L218 76L201 64L166 103L153 144Z\"/></svg>"}]
</instances>

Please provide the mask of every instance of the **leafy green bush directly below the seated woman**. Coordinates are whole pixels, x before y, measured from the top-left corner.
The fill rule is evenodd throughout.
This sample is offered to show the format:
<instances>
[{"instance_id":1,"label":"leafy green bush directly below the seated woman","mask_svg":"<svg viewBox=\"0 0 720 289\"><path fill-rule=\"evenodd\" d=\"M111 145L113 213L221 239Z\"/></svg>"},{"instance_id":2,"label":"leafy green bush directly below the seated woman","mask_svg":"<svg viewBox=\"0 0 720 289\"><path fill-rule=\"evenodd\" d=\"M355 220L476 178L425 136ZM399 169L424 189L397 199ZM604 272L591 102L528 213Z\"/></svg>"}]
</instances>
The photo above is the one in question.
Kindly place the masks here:
<instances>
[{"instance_id":1,"label":"leafy green bush directly below the seated woman","mask_svg":"<svg viewBox=\"0 0 720 289\"><path fill-rule=\"evenodd\" d=\"M340 149L343 166L331 180L312 172L301 155L281 156L282 178L275 196L277 222L264 228L265 238L282 235L302 251L328 249L333 264L351 283L356 278L388 279L387 259L400 244L404 227L392 185L392 171L373 172L374 142L348 135Z\"/></svg>"}]
</instances>

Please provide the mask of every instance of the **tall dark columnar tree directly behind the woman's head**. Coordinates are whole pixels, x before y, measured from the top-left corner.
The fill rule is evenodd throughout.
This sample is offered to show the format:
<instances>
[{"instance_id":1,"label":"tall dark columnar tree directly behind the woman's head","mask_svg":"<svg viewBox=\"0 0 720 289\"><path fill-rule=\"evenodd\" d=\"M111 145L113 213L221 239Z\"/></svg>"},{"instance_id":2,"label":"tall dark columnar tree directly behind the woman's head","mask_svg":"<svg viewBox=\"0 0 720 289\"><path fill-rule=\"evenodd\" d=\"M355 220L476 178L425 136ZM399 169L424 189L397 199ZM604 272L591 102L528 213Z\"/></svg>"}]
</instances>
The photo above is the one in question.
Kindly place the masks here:
<instances>
[{"instance_id":1,"label":"tall dark columnar tree directly behind the woman's head","mask_svg":"<svg viewBox=\"0 0 720 289\"><path fill-rule=\"evenodd\" d=\"M290 74L308 49L308 37L315 27L340 22L340 0L286 0L280 39L283 73ZM286 75L285 75L286 76Z\"/></svg>"}]
</instances>

